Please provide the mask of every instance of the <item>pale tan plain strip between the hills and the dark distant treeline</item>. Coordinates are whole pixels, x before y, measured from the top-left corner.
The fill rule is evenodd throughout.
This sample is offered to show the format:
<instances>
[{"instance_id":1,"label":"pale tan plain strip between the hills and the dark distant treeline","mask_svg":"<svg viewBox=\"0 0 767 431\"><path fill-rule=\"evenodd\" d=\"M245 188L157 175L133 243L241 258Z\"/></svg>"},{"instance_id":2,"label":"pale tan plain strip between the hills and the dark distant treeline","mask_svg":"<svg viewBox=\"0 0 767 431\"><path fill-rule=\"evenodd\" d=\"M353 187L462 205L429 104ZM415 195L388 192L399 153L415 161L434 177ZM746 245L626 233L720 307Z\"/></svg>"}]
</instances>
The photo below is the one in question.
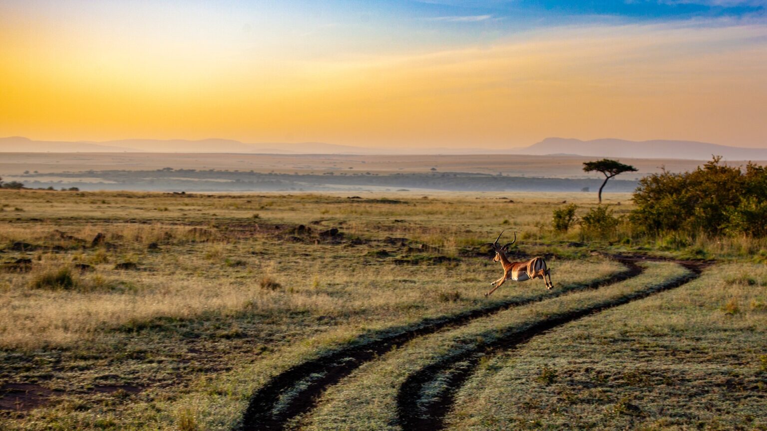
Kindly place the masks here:
<instances>
[{"instance_id":1,"label":"pale tan plain strip between the hills and the dark distant treeline","mask_svg":"<svg viewBox=\"0 0 767 431\"><path fill-rule=\"evenodd\" d=\"M551 178L597 178L583 172L588 156L525 156L518 154L479 155L346 155L346 154L232 154L232 153L2 153L0 173L14 179L24 171L40 173L77 172L105 169L254 169L257 172L324 173L357 170L371 173L440 172L486 173ZM659 172L695 169L701 160L621 159L639 172L627 174L636 179ZM732 164L746 162L734 160Z\"/></svg>"}]
</instances>

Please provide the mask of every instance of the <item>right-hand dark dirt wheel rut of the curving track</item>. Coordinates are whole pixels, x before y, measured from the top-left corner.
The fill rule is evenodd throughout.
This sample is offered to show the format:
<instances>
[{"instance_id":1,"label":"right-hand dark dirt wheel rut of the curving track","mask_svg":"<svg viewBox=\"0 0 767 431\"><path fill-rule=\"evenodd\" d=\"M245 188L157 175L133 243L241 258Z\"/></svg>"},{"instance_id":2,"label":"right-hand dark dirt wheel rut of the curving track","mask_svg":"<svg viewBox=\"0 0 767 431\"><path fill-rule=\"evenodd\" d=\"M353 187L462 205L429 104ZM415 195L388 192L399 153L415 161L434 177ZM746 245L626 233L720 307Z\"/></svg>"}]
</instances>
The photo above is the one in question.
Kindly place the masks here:
<instances>
[{"instance_id":1,"label":"right-hand dark dirt wheel rut of the curving track","mask_svg":"<svg viewBox=\"0 0 767 431\"><path fill-rule=\"evenodd\" d=\"M634 257L618 257L622 263L630 265L632 261L640 260L642 258ZM397 425L401 426L403 431L438 431L445 426L444 419L446 414L452 408L455 401L456 392L466 380L474 373L477 365L479 364L479 358L485 354L492 354L499 350L508 350L525 344L527 341L538 335L545 334L555 327L563 324L568 324L572 321L577 321L583 317L587 317L591 314L596 314L601 311L605 311L609 308L615 308L619 305L628 304L633 301L647 298L653 294L660 293L662 291L668 291L673 288L678 288L682 285L686 285L690 281L700 277L700 273L711 262L693 262L693 261L673 261L670 259L647 259L647 260L663 260L664 262L676 262L679 265L689 269L691 273L681 278L676 278L671 281L667 281L662 285L658 285L656 288L646 289L644 291L634 292L633 294L624 295L614 301L604 301L588 308L582 308L578 311L572 311L565 314L554 314L548 318L538 321L531 327L528 327L524 331L517 331L509 334L505 337L501 337L492 343L485 344L473 350L464 351L461 354L456 354L452 357L446 357L443 360L423 367L421 370L413 373L405 380L405 383L400 387L397 392ZM466 362L468 366L459 367L455 372L450 374L447 383L446 390L441 393L436 400L425 406L425 409L420 409L418 406L418 400L421 390L424 385L430 383L433 378L443 371L450 370L455 367L456 364Z\"/></svg>"}]
</instances>

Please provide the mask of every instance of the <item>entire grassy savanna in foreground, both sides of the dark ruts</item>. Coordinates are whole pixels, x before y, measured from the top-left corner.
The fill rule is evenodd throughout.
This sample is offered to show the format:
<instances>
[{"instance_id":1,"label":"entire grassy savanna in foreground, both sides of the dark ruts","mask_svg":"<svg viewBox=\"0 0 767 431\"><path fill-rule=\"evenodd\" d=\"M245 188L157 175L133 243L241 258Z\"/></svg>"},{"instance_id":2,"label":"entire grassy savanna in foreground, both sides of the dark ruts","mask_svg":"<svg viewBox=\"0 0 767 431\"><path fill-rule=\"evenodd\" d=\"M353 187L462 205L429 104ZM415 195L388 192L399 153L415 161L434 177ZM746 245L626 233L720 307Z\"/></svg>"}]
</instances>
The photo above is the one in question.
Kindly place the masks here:
<instances>
[{"instance_id":1,"label":"entire grassy savanna in foreground, both sides of the dark ruts","mask_svg":"<svg viewBox=\"0 0 767 431\"><path fill-rule=\"evenodd\" d=\"M446 367L411 401L453 393L448 428L767 426L762 242L553 232L552 210L584 212L585 194L363 196L0 191L0 428L233 429L275 377L419 330L278 426L400 429L402 385L433 364ZM629 195L605 201L632 209ZM482 296L501 229L518 232L515 255L547 256L554 290L509 281ZM721 263L639 300L690 270L640 262L610 282L626 271L605 257L617 252Z\"/></svg>"}]
</instances>

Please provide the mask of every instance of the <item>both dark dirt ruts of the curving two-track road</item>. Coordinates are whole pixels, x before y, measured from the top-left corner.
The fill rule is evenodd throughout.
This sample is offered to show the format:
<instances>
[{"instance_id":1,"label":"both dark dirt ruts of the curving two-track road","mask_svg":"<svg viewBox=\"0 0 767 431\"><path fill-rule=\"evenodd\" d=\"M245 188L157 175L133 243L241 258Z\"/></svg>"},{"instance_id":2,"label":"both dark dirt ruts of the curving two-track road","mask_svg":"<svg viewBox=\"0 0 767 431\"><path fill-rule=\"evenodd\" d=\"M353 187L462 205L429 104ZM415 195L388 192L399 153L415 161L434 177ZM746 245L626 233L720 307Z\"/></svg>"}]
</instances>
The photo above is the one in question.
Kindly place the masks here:
<instances>
[{"instance_id":1,"label":"both dark dirt ruts of the curving two-track road","mask_svg":"<svg viewBox=\"0 0 767 431\"><path fill-rule=\"evenodd\" d=\"M570 291L596 289L602 286L612 285L619 281L627 280L628 278L634 278L637 275L640 275L643 271L643 268L635 263L637 260L643 260L643 258L621 255L612 257L625 265L626 269L609 278L593 281L588 285L573 285L558 291L547 291L536 298L503 301L493 304L490 307L478 308L476 310L449 317L428 319L420 322L416 327L394 331L394 334L391 334L391 331L387 331L388 335L374 337L374 341L336 350L324 357L309 360L303 364L285 370L285 372L272 378L272 380L253 394L249 406L242 417L242 422L237 429L238 431L284 429L285 424L291 419L314 409L319 396L324 393L328 387L340 382L344 377L347 377L362 364L370 360L376 360L379 355L385 354L393 347L400 347L408 341L413 340L413 338L423 337L424 335L433 334L437 331L446 331L468 324L470 321L479 317L498 313L499 311L508 308L555 298L556 296ZM706 262L670 262L676 262L689 269L689 275L686 275L683 278L667 281L644 291L625 295L612 301L592 304L588 308L581 308L565 314L548 316L542 321L535 323L532 327L526 328L524 331L512 332L509 336L502 337L491 345L483 346L481 352L478 350L463 351L452 357L443 358L443 360L440 360L436 364L430 364L421 368L408 377L405 383L400 387L399 393L397 394L398 423L396 425L400 426L405 431L416 429L442 429L444 416L453 405L453 396L455 395L456 390L463 386L463 383L466 382L466 379L468 379L475 370L476 364L479 362L479 357L482 354L486 354L488 350L509 349L518 346L519 344L523 344L532 337L545 333L545 331L578 320L589 314L627 304L631 301L647 298L647 296L656 294L660 291L679 287L694 278L697 278L700 275L702 268L706 265ZM459 362L468 363L469 366L462 367L457 372L451 374L449 382L447 383L447 390L444 390L436 400L432 400L432 402L426 406L420 405L420 408L416 408L418 394L421 392L423 385L433 380L433 377L437 374L452 369L455 364ZM298 387L301 389L296 390ZM291 398L289 400L281 400L281 394L288 390L293 392ZM424 409L426 410L425 413Z\"/></svg>"}]
</instances>

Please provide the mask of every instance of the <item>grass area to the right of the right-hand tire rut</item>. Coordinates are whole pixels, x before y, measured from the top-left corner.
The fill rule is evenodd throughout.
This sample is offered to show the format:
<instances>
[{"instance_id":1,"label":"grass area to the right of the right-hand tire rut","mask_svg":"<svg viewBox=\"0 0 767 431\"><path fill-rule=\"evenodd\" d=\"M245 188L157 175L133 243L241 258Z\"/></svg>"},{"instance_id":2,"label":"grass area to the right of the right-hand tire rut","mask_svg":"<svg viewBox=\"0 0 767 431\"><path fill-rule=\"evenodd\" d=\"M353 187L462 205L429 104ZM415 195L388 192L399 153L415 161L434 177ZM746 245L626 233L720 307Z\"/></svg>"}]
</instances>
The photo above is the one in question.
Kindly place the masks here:
<instances>
[{"instance_id":1,"label":"grass area to the right of the right-hand tire rut","mask_svg":"<svg viewBox=\"0 0 767 431\"><path fill-rule=\"evenodd\" d=\"M565 325L486 361L450 429L762 429L765 298L763 265L721 265Z\"/></svg>"}]
</instances>

